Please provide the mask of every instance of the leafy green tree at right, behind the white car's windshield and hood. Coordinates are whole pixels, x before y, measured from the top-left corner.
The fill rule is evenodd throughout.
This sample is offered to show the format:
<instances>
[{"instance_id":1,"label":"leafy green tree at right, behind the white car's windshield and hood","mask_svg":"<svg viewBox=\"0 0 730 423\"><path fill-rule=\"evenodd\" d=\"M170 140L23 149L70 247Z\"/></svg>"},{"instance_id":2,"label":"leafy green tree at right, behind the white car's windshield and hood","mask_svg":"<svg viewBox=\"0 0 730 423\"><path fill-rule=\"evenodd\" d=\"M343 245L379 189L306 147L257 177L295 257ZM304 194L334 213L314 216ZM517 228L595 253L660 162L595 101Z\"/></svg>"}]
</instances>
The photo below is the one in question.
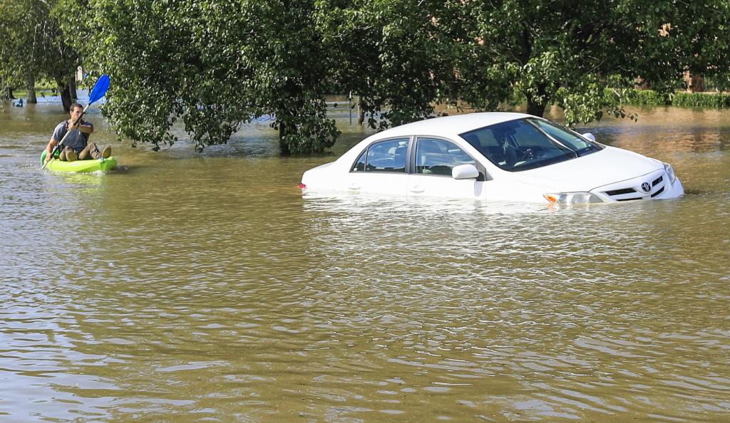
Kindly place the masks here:
<instances>
[{"instance_id":1,"label":"leafy green tree at right, behind the white car's windshield and hood","mask_svg":"<svg viewBox=\"0 0 730 423\"><path fill-rule=\"evenodd\" d=\"M456 68L461 98L479 109L510 101L510 88L542 116L561 106L569 123L623 115L621 96L637 78L674 90L686 69L727 62L727 1L464 1L453 26L466 31ZM671 29L674 28L674 29ZM618 91L621 93L621 91Z\"/></svg>"}]
</instances>

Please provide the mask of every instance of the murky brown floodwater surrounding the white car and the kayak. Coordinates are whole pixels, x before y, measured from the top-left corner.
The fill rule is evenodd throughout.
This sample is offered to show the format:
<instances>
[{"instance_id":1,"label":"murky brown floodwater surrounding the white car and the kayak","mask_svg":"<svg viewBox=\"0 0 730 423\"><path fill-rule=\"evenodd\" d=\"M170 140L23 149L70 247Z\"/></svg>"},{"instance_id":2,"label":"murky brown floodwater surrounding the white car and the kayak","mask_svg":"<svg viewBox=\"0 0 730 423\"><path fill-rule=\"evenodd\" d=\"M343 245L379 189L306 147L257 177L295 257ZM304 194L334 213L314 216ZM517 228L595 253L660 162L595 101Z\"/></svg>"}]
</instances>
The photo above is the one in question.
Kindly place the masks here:
<instances>
[{"instance_id":1,"label":"murky brown floodwater surrounding the white car and the kayak","mask_svg":"<svg viewBox=\"0 0 730 423\"><path fill-rule=\"evenodd\" d=\"M342 109L339 109L342 110ZM551 209L302 195L334 153L266 121L201 155L39 171L57 104L0 112L0 422L726 422L730 112L586 128L673 201ZM560 120L560 116L554 116Z\"/></svg>"}]
</instances>

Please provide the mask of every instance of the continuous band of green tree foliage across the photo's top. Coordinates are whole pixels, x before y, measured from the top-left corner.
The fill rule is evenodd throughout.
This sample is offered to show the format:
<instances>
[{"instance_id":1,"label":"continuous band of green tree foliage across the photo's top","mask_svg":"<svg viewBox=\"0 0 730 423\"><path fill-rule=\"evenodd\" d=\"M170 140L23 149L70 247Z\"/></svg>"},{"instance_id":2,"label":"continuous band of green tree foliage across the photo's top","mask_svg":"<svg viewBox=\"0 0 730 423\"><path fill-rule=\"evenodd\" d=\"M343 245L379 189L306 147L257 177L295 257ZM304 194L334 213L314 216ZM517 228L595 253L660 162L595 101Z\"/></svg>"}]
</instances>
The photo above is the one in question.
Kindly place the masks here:
<instances>
[{"instance_id":1,"label":"continuous band of green tree foliage across the photo's top","mask_svg":"<svg viewBox=\"0 0 730 423\"><path fill-rule=\"evenodd\" d=\"M522 101L531 114L558 104L569 124L585 123L623 115L621 95L639 80L669 91L685 71L726 75L730 64L730 0L4 1L16 9L0 35L24 38L0 44L12 58L1 77L82 58L112 78L103 113L120 137L155 148L176 141L178 122L201 150L271 115L282 152L321 151L339 135L331 93L357 96L374 128L429 117L439 103ZM20 8L43 4L29 19L63 30L43 40L72 47L64 60L29 53L36 38Z\"/></svg>"}]
</instances>

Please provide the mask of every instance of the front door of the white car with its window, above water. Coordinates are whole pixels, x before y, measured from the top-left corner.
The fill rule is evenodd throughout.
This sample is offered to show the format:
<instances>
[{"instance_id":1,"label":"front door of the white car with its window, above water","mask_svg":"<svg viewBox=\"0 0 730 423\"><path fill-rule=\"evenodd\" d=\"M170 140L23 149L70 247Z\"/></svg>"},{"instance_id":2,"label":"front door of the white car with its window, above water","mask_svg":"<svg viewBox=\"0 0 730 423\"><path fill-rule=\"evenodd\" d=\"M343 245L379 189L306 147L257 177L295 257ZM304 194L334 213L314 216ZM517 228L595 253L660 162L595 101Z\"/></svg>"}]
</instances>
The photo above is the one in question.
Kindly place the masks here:
<instances>
[{"instance_id":1,"label":"front door of the white car with its window, above water","mask_svg":"<svg viewBox=\"0 0 730 423\"><path fill-rule=\"evenodd\" d=\"M481 165L456 143L422 136L416 138L412 150L408 196L484 198L484 173L477 179L451 177L451 169L463 164L472 164L482 171Z\"/></svg>"}]
</instances>

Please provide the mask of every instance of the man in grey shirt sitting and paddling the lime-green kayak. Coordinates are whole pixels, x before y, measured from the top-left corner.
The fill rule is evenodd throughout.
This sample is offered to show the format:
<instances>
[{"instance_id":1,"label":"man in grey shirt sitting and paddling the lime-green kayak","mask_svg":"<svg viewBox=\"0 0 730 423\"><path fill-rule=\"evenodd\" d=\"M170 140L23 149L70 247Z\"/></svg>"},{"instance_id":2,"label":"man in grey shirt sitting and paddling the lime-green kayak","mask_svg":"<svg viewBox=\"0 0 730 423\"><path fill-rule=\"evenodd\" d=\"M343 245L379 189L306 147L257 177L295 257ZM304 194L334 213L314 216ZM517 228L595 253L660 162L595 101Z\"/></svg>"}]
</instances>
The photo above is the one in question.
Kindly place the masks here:
<instances>
[{"instance_id":1,"label":"man in grey shirt sitting and paddling the lime-green kayak","mask_svg":"<svg viewBox=\"0 0 730 423\"><path fill-rule=\"evenodd\" d=\"M55 126L53 135L46 146L46 161L50 160L51 154L55 146L64 139L66 132L71 131L64 141L64 149L58 155L59 160L72 162L74 160L91 160L98 158L109 158L112 155L112 147L107 147L103 152L99 152L99 147L95 143L89 142L89 135L93 133L93 125L81 119L83 112L81 104L74 103L71 105L71 119L64 120ZM74 124L75 123L75 124Z\"/></svg>"}]
</instances>

